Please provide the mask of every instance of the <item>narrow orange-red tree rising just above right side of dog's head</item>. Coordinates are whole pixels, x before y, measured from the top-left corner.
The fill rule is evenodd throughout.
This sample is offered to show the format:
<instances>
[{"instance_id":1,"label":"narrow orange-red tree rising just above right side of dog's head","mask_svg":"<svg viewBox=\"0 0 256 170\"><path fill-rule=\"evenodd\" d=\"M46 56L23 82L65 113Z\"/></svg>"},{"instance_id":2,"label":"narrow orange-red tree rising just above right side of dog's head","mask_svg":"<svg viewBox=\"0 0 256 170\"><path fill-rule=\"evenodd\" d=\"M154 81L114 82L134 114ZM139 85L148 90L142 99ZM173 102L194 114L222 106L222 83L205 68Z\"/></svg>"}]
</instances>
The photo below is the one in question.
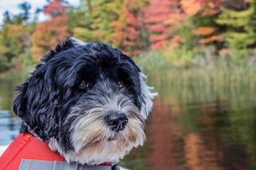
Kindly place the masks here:
<instances>
[{"instance_id":1,"label":"narrow orange-red tree rising just above right side of dog's head","mask_svg":"<svg viewBox=\"0 0 256 170\"><path fill-rule=\"evenodd\" d=\"M124 0L117 20L113 20L113 44L128 54L139 54L143 48L143 26L140 22L142 0Z\"/></svg>"}]
</instances>

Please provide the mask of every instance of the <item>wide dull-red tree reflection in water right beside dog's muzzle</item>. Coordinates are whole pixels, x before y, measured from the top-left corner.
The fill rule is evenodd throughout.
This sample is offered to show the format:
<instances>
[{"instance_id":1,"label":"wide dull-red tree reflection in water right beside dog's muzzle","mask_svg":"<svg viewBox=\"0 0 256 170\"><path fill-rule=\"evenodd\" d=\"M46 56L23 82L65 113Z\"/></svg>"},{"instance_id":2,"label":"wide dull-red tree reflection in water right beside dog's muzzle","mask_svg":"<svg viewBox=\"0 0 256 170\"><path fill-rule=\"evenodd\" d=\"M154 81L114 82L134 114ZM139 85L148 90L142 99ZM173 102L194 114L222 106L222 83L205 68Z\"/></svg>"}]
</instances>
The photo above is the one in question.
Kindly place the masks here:
<instances>
[{"instance_id":1,"label":"wide dull-red tree reflection in water right beside dog's muzzle","mask_svg":"<svg viewBox=\"0 0 256 170\"><path fill-rule=\"evenodd\" d=\"M182 127L177 123L177 112L157 99L154 105L154 114L150 117L148 127L148 154L150 169L184 169ZM178 163L179 162L179 163Z\"/></svg>"}]
</instances>

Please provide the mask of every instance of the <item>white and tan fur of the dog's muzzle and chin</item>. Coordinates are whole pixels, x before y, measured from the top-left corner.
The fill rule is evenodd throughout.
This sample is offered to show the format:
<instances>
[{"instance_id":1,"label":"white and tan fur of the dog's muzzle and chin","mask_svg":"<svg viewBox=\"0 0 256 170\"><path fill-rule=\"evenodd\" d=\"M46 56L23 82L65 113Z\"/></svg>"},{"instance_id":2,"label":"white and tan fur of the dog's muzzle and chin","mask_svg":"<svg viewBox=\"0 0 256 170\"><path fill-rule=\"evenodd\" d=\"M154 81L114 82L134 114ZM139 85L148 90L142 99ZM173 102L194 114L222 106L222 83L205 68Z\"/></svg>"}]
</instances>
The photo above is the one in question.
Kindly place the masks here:
<instances>
[{"instance_id":1,"label":"white and tan fur of the dog's muzzle and chin","mask_svg":"<svg viewBox=\"0 0 256 170\"><path fill-rule=\"evenodd\" d=\"M81 164L100 164L117 162L146 139L142 119L136 107L131 107L131 100L121 94L102 97L102 104L97 105L73 122L72 143L74 151L64 152L55 139L49 140L49 147L58 150L68 162ZM73 114L79 108L73 108ZM125 130L115 133L104 122L102 117L108 111L125 112L128 123ZM114 138L114 139L113 139ZM113 139L113 140L108 140Z\"/></svg>"}]
</instances>

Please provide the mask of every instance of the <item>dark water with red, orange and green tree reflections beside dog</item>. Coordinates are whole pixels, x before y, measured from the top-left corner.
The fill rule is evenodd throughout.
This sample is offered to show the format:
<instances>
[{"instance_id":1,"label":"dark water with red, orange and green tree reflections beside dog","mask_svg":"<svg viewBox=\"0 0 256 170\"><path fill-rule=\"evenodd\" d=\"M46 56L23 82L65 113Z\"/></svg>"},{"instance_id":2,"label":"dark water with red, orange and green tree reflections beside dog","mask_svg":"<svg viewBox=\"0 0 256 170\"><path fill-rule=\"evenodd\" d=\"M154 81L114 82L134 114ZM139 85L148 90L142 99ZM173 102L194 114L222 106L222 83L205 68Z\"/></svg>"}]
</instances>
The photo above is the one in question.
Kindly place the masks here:
<instances>
[{"instance_id":1,"label":"dark water with red, orange and green tree reflections beside dog","mask_svg":"<svg viewBox=\"0 0 256 170\"><path fill-rule=\"evenodd\" d=\"M255 169L255 116L250 111L234 118L236 111L224 101L166 105L156 99L148 121L147 154L140 158L147 168L131 164L143 149L134 150L123 164L152 170Z\"/></svg>"}]
</instances>

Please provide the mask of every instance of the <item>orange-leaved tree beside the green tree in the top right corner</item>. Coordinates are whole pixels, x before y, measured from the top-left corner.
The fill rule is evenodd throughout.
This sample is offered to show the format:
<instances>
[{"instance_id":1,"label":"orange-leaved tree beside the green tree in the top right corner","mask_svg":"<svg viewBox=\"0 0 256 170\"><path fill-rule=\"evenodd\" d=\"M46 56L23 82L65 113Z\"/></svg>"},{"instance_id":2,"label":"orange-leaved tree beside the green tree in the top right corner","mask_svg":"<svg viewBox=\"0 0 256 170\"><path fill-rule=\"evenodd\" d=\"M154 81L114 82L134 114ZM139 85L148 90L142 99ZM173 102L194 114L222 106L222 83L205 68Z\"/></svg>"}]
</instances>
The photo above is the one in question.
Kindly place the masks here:
<instances>
[{"instance_id":1,"label":"orange-leaved tree beside the green tree in the top right corner","mask_svg":"<svg viewBox=\"0 0 256 170\"><path fill-rule=\"evenodd\" d=\"M220 13L222 0L181 0L181 8L187 15L190 27L188 43L212 45L223 42L220 26L215 18Z\"/></svg>"}]
</instances>

